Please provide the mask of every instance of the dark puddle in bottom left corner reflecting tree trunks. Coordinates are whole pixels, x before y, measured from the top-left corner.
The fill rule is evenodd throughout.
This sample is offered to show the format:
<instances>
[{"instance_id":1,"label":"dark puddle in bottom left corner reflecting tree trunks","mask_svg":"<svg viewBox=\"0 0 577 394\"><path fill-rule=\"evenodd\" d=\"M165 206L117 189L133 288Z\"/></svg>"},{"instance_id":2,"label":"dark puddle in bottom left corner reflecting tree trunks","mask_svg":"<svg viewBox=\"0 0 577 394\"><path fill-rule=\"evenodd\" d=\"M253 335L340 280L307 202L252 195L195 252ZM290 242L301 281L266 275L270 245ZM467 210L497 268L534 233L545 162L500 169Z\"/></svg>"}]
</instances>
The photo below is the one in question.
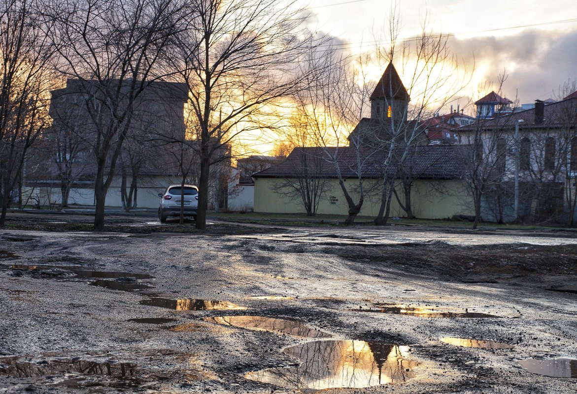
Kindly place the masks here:
<instances>
[{"instance_id":1,"label":"dark puddle in bottom left corner reflecting tree trunks","mask_svg":"<svg viewBox=\"0 0 577 394\"><path fill-rule=\"evenodd\" d=\"M136 364L83 361L76 358L39 362L20 362L18 357L0 358L0 374L12 377L36 377L57 373L128 377L136 375Z\"/></svg>"}]
</instances>

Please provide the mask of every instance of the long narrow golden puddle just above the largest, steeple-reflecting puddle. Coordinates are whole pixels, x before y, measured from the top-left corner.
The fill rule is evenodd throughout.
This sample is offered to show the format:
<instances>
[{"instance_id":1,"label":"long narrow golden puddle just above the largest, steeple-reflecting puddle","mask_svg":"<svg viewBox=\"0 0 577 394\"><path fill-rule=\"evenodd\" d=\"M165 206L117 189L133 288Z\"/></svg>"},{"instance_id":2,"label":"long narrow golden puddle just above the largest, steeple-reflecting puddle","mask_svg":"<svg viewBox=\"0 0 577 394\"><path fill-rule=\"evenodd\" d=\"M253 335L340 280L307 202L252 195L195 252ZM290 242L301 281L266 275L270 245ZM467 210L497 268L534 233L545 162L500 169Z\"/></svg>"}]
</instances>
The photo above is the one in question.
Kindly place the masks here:
<instances>
[{"instance_id":1,"label":"long narrow golden puddle just above the largest, steeple-reflecting puddle","mask_svg":"<svg viewBox=\"0 0 577 394\"><path fill-rule=\"evenodd\" d=\"M280 332L302 338L330 338L332 336L326 332L310 328L298 320L275 319L263 316L219 316L206 317L203 320L234 327Z\"/></svg>"}]
</instances>

